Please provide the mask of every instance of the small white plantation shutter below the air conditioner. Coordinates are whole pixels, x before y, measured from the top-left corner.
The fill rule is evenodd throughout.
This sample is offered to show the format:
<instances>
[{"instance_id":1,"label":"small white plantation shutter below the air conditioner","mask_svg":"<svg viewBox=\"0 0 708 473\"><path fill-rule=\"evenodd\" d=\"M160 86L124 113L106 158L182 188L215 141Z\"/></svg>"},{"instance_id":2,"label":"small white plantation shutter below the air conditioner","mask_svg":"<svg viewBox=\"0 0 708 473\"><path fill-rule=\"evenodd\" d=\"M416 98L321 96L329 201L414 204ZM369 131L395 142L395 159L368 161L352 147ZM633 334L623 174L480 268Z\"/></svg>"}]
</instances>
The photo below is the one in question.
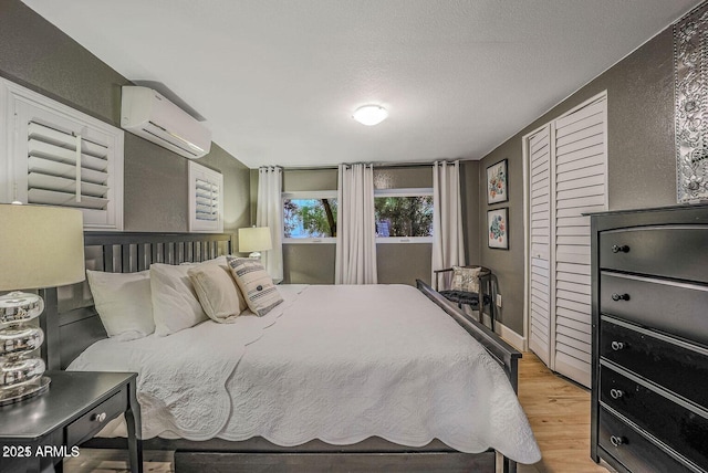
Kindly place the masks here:
<instances>
[{"instance_id":1,"label":"small white plantation shutter below the air conditioner","mask_svg":"<svg viewBox=\"0 0 708 473\"><path fill-rule=\"evenodd\" d=\"M223 176L189 161L189 231L223 231Z\"/></svg>"}]
</instances>

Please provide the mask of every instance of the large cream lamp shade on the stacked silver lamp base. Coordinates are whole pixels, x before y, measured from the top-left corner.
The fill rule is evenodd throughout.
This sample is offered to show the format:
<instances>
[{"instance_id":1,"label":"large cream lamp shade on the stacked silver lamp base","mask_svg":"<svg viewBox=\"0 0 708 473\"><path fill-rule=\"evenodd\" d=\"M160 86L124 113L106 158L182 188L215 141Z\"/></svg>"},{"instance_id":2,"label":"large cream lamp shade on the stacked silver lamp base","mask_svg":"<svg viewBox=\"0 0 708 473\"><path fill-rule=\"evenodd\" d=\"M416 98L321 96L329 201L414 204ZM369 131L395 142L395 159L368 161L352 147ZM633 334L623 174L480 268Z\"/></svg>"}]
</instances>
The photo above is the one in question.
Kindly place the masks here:
<instances>
[{"instance_id":1,"label":"large cream lamp shade on the stacked silver lamp base","mask_svg":"<svg viewBox=\"0 0 708 473\"><path fill-rule=\"evenodd\" d=\"M81 210L0 204L0 291L84 281Z\"/></svg>"}]
</instances>

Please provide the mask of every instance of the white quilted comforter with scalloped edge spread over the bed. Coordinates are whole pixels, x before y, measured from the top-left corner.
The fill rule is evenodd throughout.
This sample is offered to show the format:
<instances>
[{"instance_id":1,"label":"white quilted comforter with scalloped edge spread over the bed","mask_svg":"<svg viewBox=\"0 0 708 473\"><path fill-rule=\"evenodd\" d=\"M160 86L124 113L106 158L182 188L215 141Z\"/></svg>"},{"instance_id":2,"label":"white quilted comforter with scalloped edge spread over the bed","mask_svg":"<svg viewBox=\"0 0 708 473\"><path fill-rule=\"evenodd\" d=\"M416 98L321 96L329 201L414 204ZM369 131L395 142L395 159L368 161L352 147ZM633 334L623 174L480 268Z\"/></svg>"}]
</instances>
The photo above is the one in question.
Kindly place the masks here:
<instances>
[{"instance_id":1,"label":"white quilted comforter with scalloped edge spread over the bed","mask_svg":"<svg viewBox=\"0 0 708 473\"><path fill-rule=\"evenodd\" d=\"M98 341L70 369L138 371L144 439L290 446L377 435L540 460L501 367L416 288L300 290L282 287L285 303L262 318Z\"/></svg>"}]
</instances>

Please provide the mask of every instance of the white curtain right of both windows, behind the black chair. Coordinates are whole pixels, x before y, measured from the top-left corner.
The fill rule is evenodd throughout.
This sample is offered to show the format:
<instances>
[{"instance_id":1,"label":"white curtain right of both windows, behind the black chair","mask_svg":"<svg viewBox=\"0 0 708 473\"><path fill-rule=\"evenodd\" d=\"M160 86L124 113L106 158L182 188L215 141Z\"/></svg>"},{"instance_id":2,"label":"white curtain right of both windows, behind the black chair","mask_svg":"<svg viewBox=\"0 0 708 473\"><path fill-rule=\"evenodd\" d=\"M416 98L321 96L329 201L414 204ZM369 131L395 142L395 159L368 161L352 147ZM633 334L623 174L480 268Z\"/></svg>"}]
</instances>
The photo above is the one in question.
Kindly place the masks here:
<instances>
[{"instance_id":1,"label":"white curtain right of both windows, behind the black chair","mask_svg":"<svg viewBox=\"0 0 708 473\"><path fill-rule=\"evenodd\" d=\"M433 165L433 271L464 266L460 161ZM431 277L435 284L435 273Z\"/></svg>"}]
</instances>

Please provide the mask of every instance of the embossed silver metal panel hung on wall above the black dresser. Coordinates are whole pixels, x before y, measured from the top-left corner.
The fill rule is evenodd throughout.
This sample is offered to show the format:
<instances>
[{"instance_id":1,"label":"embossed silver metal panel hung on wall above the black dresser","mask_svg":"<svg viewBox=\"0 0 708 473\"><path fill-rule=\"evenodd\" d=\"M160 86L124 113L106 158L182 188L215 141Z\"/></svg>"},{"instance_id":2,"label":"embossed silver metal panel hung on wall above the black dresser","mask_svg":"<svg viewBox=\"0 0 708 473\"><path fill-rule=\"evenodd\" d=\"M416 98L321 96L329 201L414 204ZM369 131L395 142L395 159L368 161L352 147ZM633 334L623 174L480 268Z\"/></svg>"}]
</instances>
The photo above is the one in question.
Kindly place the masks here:
<instances>
[{"instance_id":1,"label":"embossed silver metal panel hung on wall above the black dresser","mask_svg":"<svg viewBox=\"0 0 708 473\"><path fill-rule=\"evenodd\" d=\"M708 200L708 3L674 23L676 200Z\"/></svg>"}]
</instances>

